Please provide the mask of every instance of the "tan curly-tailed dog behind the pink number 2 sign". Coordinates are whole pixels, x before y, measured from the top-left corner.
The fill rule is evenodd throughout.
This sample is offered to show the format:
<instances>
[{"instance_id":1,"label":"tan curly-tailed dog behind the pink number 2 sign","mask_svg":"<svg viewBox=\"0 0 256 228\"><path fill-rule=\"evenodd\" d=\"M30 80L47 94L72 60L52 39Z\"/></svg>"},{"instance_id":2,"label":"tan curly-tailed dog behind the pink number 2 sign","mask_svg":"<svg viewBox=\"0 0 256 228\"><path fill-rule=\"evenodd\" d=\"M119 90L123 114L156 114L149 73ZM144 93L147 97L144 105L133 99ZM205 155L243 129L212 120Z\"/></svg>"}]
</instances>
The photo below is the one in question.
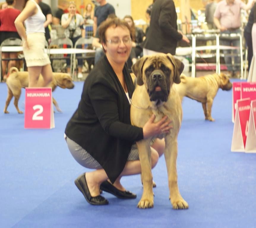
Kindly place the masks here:
<instances>
[{"instance_id":1,"label":"tan curly-tailed dog behind the pink number 2 sign","mask_svg":"<svg viewBox=\"0 0 256 228\"><path fill-rule=\"evenodd\" d=\"M39 76L38 83L42 84L43 77ZM4 113L9 113L7 107L10 104L12 97L14 96L14 106L18 113L22 114L23 112L19 110L18 101L20 99L21 88L26 88L29 86L29 73L27 71L18 71L16 67L11 67L9 70L9 77L6 79L6 84L8 87L7 99L5 102ZM65 89L74 88L74 83L69 74L66 73L53 73L53 80L48 85L52 88L52 91L56 89L57 86ZM53 98L53 105L56 107L58 112L61 112L58 103Z\"/></svg>"}]
</instances>

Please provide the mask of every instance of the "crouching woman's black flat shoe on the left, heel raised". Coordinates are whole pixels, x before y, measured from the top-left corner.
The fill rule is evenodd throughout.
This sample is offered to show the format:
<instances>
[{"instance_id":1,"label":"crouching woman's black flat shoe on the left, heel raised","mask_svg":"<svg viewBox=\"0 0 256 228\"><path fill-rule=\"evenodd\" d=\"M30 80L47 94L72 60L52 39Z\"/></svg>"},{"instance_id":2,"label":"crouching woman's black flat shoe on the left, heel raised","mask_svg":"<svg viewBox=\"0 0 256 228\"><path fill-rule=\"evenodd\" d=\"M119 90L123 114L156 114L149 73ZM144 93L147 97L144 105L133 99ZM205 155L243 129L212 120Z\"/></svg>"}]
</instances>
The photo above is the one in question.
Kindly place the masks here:
<instances>
[{"instance_id":1,"label":"crouching woman's black flat shoe on the left, heel raised","mask_svg":"<svg viewBox=\"0 0 256 228\"><path fill-rule=\"evenodd\" d=\"M108 200L106 200L104 197L101 195L92 197L90 194L90 191L88 189L86 179L85 179L85 173L80 175L76 180L75 180L75 185L77 188L83 193L84 198L86 201L91 204L91 205L106 205L108 204Z\"/></svg>"}]
</instances>

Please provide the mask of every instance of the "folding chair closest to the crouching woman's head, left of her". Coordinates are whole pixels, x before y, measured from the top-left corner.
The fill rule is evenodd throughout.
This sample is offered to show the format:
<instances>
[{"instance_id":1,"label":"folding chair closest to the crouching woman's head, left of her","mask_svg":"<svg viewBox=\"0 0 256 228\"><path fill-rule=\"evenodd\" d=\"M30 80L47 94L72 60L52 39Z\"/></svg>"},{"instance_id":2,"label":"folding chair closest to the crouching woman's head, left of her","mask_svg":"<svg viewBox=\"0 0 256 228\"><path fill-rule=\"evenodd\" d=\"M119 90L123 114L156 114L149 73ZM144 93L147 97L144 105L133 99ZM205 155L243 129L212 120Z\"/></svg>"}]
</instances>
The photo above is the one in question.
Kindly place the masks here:
<instances>
[{"instance_id":1,"label":"folding chair closest to the crouching woman's head, left of her","mask_svg":"<svg viewBox=\"0 0 256 228\"><path fill-rule=\"evenodd\" d=\"M89 49L90 46L92 47L92 40L93 40L93 37L90 37L90 38L81 37L75 42L75 48ZM75 53L73 56L74 67L73 67L72 77L74 78L74 75L75 75L75 66L76 66L77 59L83 59L83 60L91 59L92 61L94 61L94 58L95 58L95 53L83 53L82 56L76 56L76 53ZM89 70L90 70L90 66L89 66Z\"/></svg>"}]
</instances>

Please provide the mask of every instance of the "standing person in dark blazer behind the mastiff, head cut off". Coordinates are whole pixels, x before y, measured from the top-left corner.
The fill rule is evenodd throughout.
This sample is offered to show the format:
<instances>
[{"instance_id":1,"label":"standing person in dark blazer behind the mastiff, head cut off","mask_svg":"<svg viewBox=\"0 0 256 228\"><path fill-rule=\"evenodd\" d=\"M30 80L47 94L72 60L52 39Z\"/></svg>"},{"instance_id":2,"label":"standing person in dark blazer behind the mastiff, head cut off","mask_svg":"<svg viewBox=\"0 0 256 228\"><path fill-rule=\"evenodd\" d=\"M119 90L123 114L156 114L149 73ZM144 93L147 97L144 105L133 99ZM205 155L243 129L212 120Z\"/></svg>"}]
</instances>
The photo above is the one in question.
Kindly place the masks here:
<instances>
[{"instance_id":1,"label":"standing person in dark blazer behind the mastiff, head cut off","mask_svg":"<svg viewBox=\"0 0 256 228\"><path fill-rule=\"evenodd\" d=\"M155 1L143 46L143 55L150 55L154 52L175 55L179 40L189 43L189 39L177 30L177 13L173 0Z\"/></svg>"}]
</instances>

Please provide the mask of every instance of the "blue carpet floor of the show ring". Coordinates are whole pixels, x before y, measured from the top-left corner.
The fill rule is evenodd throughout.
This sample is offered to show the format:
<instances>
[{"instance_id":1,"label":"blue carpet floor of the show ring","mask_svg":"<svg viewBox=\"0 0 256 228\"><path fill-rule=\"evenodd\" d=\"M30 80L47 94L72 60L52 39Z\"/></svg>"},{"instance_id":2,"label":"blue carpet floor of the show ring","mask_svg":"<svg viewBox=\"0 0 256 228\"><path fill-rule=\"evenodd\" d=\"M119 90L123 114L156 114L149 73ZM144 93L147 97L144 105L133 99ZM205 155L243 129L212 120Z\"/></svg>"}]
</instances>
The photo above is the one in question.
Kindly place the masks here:
<instances>
[{"instance_id":1,"label":"blue carpet floor of the show ring","mask_svg":"<svg viewBox=\"0 0 256 228\"><path fill-rule=\"evenodd\" d=\"M143 191L139 175L122 178L137 199L103 193L107 206L89 205L74 184L89 170L72 158L63 134L82 87L75 82L72 90L54 91L63 111L54 114L54 129L24 129L24 114L13 103L10 114L0 113L0 227L256 227L256 155L230 151L231 91L219 90L214 99L215 122L204 120L200 103L184 99L177 170L189 209L172 209L162 156L153 170L154 208L142 210L136 207ZM6 96L0 83L2 110Z\"/></svg>"}]
</instances>

